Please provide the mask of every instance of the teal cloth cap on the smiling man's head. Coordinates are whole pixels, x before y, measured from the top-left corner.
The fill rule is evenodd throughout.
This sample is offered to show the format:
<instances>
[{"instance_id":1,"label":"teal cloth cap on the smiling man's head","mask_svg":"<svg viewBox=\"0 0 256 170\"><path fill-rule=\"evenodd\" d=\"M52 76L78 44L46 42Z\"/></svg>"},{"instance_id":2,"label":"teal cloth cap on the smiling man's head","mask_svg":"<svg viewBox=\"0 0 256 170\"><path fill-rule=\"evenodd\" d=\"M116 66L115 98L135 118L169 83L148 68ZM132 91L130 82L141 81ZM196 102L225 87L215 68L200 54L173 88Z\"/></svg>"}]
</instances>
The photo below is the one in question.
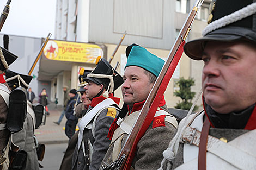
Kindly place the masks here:
<instances>
[{"instance_id":1,"label":"teal cloth cap on the smiling man's head","mask_svg":"<svg viewBox=\"0 0 256 170\"><path fill-rule=\"evenodd\" d=\"M129 46L127 48L129 48ZM138 66L144 68L157 77L162 70L163 65L164 60L154 54L151 54L147 49L141 46L133 46L127 58L125 68L129 66Z\"/></svg>"}]
</instances>

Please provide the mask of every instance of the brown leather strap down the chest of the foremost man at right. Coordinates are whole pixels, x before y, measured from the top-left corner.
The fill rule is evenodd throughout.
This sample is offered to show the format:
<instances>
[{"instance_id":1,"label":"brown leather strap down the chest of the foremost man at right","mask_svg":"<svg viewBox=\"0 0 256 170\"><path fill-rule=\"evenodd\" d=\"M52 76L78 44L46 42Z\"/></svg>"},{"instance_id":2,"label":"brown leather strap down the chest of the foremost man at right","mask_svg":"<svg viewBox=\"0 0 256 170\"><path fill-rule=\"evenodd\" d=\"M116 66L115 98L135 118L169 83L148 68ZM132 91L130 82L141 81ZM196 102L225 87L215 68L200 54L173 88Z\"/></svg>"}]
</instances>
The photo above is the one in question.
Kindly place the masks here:
<instances>
[{"instance_id":1,"label":"brown leather strap down the chest of the foremost man at right","mask_svg":"<svg viewBox=\"0 0 256 170\"><path fill-rule=\"evenodd\" d=\"M210 121L206 117L201 136L200 136L200 143L199 143L199 154L198 154L198 170L206 170L206 147L208 141L208 134L210 129Z\"/></svg>"}]
</instances>

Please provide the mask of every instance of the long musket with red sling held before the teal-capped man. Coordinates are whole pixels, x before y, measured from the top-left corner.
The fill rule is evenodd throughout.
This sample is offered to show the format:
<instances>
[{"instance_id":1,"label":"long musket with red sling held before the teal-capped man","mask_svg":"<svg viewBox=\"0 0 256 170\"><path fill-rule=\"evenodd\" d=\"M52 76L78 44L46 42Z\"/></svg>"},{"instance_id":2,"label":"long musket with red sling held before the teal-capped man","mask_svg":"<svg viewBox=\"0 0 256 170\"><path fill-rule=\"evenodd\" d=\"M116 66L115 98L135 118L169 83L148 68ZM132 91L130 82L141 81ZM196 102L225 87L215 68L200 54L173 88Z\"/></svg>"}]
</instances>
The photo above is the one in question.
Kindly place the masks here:
<instances>
[{"instance_id":1,"label":"long musket with red sling held before the teal-capped man","mask_svg":"<svg viewBox=\"0 0 256 170\"><path fill-rule=\"evenodd\" d=\"M136 123L133 125L130 134L126 138L125 144L121 149L117 160L115 160L109 167L104 168L105 170L130 169L131 162L136 152L137 143L144 135L145 131L148 129L155 116L157 106L160 103L160 100L167 88L173 72L175 71L176 65L178 65L183 52L182 48L185 44L185 39L191 30L194 18L196 17L196 14L202 3L203 0L197 0L194 4L193 9L188 15L182 29L180 30L179 36L177 37L172 49L170 50L168 58L163 65L159 77L156 79L156 82L150 91L142 110L139 112Z\"/></svg>"}]
</instances>

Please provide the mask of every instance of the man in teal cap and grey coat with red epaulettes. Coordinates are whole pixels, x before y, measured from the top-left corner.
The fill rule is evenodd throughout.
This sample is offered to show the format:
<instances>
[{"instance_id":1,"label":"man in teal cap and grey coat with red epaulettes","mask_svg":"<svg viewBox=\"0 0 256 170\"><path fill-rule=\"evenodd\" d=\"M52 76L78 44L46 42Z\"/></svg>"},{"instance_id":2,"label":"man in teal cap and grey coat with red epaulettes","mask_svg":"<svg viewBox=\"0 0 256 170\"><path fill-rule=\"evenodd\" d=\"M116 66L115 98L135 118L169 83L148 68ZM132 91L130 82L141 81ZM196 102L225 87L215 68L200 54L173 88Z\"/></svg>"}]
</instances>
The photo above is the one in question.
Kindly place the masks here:
<instances>
[{"instance_id":1,"label":"man in teal cap and grey coat with red epaulettes","mask_svg":"<svg viewBox=\"0 0 256 170\"><path fill-rule=\"evenodd\" d=\"M109 129L111 144L101 163L101 169L117 159L164 64L162 59L135 44L126 48L126 56L123 76L125 82L122 85L124 106ZM173 136L177 125L174 116L168 113L166 101L162 97L153 122L137 144L131 168L149 170L160 167L162 152L168 147L169 138Z\"/></svg>"}]
</instances>

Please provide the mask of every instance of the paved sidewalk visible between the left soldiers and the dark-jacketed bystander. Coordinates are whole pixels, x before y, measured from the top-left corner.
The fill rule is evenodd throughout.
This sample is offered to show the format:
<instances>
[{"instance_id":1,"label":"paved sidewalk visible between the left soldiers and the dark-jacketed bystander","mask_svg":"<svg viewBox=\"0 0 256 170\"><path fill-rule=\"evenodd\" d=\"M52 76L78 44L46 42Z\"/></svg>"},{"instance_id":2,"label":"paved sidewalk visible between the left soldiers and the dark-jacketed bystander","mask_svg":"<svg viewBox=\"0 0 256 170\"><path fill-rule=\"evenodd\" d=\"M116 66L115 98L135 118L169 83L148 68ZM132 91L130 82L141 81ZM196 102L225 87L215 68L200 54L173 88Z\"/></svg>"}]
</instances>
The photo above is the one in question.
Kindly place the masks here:
<instances>
[{"instance_id":1,"label":"paved sidewalk visible between the left soldiers and the dark-jacketed bystander","mask_svg":"<svg viewBox=\"0 0 256 170\"><path fill-rule=\"evenodd\" d=\"M64 127L66 117L64 116L60 125L57 122L62 112L62 106L55 107L54 103L48 105L48 112L50 115L46 118L46 124L41 125L39 129L35 129L35 136L39 143L54 144L54 143L68 143L69 138L65 135Z\"/></svg>"}]
</instances>

